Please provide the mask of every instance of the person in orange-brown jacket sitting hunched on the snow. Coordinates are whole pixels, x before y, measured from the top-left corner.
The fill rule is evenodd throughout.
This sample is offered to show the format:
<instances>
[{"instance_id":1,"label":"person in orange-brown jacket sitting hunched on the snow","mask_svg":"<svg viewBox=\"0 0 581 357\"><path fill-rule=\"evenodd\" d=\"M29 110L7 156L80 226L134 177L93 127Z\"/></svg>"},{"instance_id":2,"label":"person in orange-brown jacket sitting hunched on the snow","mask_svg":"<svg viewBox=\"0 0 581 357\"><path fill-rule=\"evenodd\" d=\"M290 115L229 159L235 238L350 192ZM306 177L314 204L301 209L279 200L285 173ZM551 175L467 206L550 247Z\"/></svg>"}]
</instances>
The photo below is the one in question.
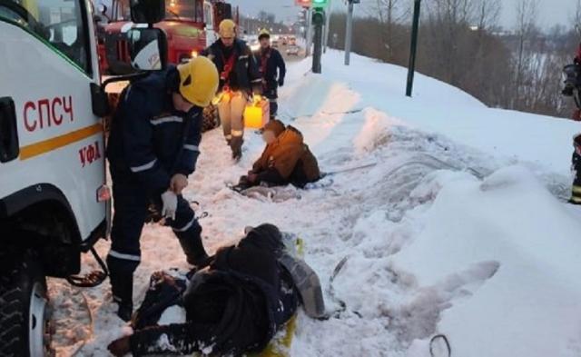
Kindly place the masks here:
<instances>
[{"instance_id":1,"label":"person in orange-brown jacket sitting hunched on the snow","mask_svg":"<svg viewBox=\"0 0 581 357\"><path fill-rule=\"evenodd\" d=\"M280 120L271 120L262 128L266 148L252 165L252 170L242 176L234 190L243 191L252 186L281 186L293 184L303 188L320 179L317 159L304 144L302 134Z\"/></svg>"}]
</instances>

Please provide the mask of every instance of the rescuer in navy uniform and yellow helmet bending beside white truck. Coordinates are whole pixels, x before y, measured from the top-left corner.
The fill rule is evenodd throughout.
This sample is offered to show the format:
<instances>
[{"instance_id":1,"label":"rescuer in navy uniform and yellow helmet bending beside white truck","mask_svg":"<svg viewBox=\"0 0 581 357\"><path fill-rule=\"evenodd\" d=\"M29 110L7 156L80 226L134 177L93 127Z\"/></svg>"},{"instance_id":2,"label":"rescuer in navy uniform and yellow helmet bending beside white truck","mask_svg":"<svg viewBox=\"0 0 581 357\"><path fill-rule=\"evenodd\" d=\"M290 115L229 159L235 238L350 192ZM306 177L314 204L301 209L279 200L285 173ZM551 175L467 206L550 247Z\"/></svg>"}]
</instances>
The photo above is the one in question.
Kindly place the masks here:
<instances>
[{"instance_id":1,"label":"rescuer in navy uniform and yellow helmet bending beside white truck","mask_svg":"<svg viewBox=\"0 0 581 357\"><path fill-rule=\"evenodd\" d=\"M125 321L133 312L133 272L153 203L179 239L188 263L203 263L202 227L182 190L195 170L202 108L218 89L218 71L204 57L150 74L122 94L107 147L113 179L113 228L107 256L113 301Z\"/></svg>"}]
</instances>

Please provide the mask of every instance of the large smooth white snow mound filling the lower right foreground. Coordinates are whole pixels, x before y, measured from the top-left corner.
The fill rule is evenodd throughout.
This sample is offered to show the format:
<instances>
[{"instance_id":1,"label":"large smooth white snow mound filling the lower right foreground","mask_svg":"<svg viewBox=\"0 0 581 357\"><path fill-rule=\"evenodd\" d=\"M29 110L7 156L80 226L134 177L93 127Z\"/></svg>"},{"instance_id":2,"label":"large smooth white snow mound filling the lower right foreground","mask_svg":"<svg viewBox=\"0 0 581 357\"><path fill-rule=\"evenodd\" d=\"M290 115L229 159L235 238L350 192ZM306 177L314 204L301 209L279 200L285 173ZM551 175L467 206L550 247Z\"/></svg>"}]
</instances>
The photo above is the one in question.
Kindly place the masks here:
<instances>
[{"instance_id":1,"label":"large smooth white snow mound filling the lower right foreground","mask_svg":"<svg viewBox=\"0 0 581 357\"><path fill-rule=\"evenodd\" d=\"M578 356L580 217L522 167L483 183L465 176L439 190L424 231L394 263L421 285L461 298L438 325L455 354ZM490 262L498 266L493 276ZM458 276L468 266L475 270ZM473 287L441 283L462 275Z\"/></svg>"}]
</instances>

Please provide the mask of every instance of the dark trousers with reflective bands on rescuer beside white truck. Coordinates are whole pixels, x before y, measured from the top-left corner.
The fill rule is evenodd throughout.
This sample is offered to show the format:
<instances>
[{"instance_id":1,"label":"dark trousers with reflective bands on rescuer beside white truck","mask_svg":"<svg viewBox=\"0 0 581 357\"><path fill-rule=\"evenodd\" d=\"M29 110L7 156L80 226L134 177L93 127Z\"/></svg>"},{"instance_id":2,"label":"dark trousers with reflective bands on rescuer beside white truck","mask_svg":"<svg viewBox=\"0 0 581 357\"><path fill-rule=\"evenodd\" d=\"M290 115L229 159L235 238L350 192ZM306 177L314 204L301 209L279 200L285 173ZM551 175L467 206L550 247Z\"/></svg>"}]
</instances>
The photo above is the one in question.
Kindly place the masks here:
<instances>
[{"instance_id":1,"label":"dark trousers with reflective bands on rescuer beside white truck","mask_svg":"<svg viewBox=\"0 0 581 357\"><path fill-rule=\"evenodd\" d=\"M136 179L123 177L115 180L113 174L113 227L111 250L107 265L111 274L113 300L132 303L133 272L141 262L140 237L151 203L162 210L161 197L152 197ZM202 227L195 218L192 207L178 196L175 220L168 220L173 233L180 240L188 262L205 255L202 245Z\"/></svg>"}]
</instances>

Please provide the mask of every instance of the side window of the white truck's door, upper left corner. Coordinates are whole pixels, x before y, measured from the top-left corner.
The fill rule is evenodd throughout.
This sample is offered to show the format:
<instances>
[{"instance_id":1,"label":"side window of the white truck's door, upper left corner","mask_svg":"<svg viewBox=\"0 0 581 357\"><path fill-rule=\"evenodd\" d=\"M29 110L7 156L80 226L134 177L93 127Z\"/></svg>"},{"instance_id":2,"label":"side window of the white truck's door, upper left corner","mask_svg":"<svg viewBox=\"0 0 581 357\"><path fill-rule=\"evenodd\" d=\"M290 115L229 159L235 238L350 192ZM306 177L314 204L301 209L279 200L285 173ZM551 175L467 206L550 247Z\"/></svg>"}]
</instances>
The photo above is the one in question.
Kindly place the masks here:
<instances>
[{"instance_id":1,"label":"side window of the white truck's door, upper left corner","mask_svg":"<svg viewBox=\"0 0 581 357\"><path fill-rule=\"evenodd\" d=\"M82 8L76 0L0 0L4 17L44 38L55 50L90 73Z\"/></svg>"}]
</instances>

